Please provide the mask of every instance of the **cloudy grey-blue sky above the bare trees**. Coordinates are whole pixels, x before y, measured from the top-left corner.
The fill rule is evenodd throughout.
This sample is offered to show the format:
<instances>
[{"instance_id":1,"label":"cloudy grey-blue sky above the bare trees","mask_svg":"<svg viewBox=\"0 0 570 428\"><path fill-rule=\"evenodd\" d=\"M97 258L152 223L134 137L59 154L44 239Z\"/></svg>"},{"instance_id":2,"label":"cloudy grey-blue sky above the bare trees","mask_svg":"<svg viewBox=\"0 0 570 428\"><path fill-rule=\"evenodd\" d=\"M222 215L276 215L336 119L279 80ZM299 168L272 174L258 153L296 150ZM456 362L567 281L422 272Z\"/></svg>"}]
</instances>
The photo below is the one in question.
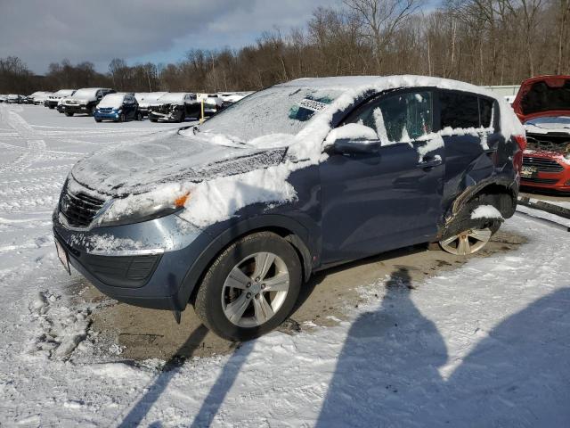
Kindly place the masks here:
<instances>
[{"instance_id":1,"label":"cloudy grey-blue sky above the bare trees","mask_svg":"<svg viewBox=\"0 0 570 428\"><path fill-rule=\"evenodd\" d=\"M177 62L191 48L240 47L305 26L340 0L0 0L0 57L43 74L50 62Z\"/></svg>"}]
</instances>

